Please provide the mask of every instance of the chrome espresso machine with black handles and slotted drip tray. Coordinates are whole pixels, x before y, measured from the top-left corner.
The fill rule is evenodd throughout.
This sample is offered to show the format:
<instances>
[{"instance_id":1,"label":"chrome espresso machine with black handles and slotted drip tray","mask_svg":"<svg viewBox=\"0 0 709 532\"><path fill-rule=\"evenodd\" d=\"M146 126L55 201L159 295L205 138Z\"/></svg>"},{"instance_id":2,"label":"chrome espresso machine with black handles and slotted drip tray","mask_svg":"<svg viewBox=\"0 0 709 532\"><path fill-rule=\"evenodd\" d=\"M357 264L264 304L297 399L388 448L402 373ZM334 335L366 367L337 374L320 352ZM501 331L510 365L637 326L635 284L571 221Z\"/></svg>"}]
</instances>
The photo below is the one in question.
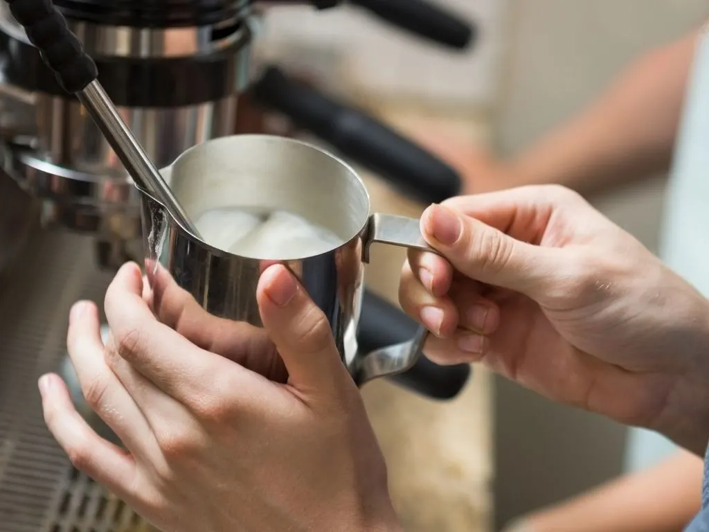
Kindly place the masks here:
<instances>
[{"instance_id":1,"label":"chrome espresso machine with black handles and slotted drip tray","mask_svg":"<svg viewBox=\"0 0 709 532\"><path fill-rule=\"evenodd\" d=\"M457 194L459 178L444 162L366 112L254 60L264 11L289 3L55 0L157 167L211 138L262 133L240 120L257 111L279 113L294 135L306 131L415 199ZM474 41L471 23L427 1L350 4L432 45L464 50ZM44 427L35 386L38 375L66 366L69 306L102 301L118 266L142 262L140 231L138 194L118 157L0 2L0 532L147 530L71 467ZM417 333L401 311L365 295L362 349ZM468 377L467 366L421 358L393 380L449 399Z\"/></svg>"}]
</instances>

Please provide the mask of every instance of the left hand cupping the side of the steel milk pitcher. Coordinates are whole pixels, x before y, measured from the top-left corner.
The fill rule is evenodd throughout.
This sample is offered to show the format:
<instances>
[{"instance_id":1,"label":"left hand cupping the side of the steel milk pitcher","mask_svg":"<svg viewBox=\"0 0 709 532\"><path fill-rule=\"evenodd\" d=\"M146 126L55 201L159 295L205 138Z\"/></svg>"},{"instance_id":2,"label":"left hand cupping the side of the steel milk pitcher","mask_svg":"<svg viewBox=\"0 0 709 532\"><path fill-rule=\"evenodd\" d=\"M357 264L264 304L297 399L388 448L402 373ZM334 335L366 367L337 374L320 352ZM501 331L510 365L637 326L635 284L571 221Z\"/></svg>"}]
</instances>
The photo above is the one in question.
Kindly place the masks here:
<instances>
[{"instance_id":1,"label":"left hand cupping the side of the steel milk pitcher","mask_svg":"<svg viewBox=\"0 0 709 532\"><path fill-rule=\"evenodd\" d=\"M40 379L45 421L78 469L163 531L398 530L357 387L283 266L264 272L257 296L285 384L194 345L142 294L125 265L106 294L106 348L86 302L67 340L86 401L125 450L91 431L61 379Z\"/></svg>"}]
</instances>

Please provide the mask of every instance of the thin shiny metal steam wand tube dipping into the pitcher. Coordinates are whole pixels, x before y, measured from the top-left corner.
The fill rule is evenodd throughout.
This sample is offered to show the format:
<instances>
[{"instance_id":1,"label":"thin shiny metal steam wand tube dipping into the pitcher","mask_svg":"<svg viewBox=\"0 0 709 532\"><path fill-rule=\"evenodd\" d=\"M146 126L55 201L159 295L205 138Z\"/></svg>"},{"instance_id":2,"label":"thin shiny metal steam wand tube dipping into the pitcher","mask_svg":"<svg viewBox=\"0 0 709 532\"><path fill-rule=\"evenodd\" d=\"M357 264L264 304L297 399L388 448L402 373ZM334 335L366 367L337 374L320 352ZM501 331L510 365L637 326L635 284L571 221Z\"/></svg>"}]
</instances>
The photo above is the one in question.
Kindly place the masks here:
<instances>
[{"instance_id":1,"label":"thin shiny metal steam wand tube dipping into the pitcher","mask_svg":"<svg viewBox=\"0 0 709 532\"><path fill-rule=\"evenodd\" d=\"M172 194L172 190L162 179L160 171L157 170L143 150L143 146L125 124L116 106L104 91L104 87L101 87L101 84L94 79L77 93L77 98L89 111L91 118L94 118L96 125L104 133L108 144L111 145L113 152L121 160L123 167L133 178L135 184L138 184L142 189L149 190L177 223L193 235L199 236L199 232L180 204L179 199Z\"/></svg>"}]
</instances>

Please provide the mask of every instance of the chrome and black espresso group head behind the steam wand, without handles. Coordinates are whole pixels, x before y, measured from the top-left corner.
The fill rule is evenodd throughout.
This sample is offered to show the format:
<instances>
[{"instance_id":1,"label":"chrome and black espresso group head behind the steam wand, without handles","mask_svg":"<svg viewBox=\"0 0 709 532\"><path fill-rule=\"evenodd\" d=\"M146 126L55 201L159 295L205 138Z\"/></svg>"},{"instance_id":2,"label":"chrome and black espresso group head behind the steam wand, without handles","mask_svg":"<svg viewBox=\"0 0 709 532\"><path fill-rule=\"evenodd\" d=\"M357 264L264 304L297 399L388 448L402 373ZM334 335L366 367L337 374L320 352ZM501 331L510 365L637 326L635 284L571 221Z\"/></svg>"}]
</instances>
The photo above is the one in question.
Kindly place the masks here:
<instances>
[{"instance_id":1,"label":"chrome and black espresso group head behind the steam wand, without handles","mask_svg":"<svg viewBox=\"0 0 709 532\"><path fill-rule=\"evenodd\" d=\"M57 1L152 161L169 165L187 148L233 133L250 66L248 4L230 0L215 9L214 2L187 2L194 9L186 13L156 9L155 2L129 3L146 6L130 10L121 4ZM101 265L139 258L131 250L140 240L132 182L4 3L0 50L4 108L23 111L0 113L4 172L40 202L41 226L94 235Z\"/></svg>"}]
</instances>

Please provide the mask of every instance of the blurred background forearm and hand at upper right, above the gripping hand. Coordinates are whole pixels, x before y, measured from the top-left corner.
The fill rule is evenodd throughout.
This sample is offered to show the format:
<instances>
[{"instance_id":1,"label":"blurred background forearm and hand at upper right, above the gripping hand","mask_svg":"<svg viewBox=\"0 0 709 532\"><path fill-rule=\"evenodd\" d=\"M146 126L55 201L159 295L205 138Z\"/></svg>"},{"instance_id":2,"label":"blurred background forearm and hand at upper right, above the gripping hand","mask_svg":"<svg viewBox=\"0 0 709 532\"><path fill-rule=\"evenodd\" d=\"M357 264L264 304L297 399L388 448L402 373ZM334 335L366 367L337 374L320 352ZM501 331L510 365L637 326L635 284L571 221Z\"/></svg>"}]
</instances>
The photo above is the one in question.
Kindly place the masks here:
<instances>
[{"instance_id":1,"label":"blurred background forearm and hand at upper right, above the gripping hand","mask_svg":"<svg viewBox=\"0 0 709 532\"><path fill-rule=\"evenodd\" d=\"M428 127L417 138L453 165L466 194L562 184L584 194L667 172L700 31L629 65L581 113L509 160Z\"/></svg>"}]
</instances>

